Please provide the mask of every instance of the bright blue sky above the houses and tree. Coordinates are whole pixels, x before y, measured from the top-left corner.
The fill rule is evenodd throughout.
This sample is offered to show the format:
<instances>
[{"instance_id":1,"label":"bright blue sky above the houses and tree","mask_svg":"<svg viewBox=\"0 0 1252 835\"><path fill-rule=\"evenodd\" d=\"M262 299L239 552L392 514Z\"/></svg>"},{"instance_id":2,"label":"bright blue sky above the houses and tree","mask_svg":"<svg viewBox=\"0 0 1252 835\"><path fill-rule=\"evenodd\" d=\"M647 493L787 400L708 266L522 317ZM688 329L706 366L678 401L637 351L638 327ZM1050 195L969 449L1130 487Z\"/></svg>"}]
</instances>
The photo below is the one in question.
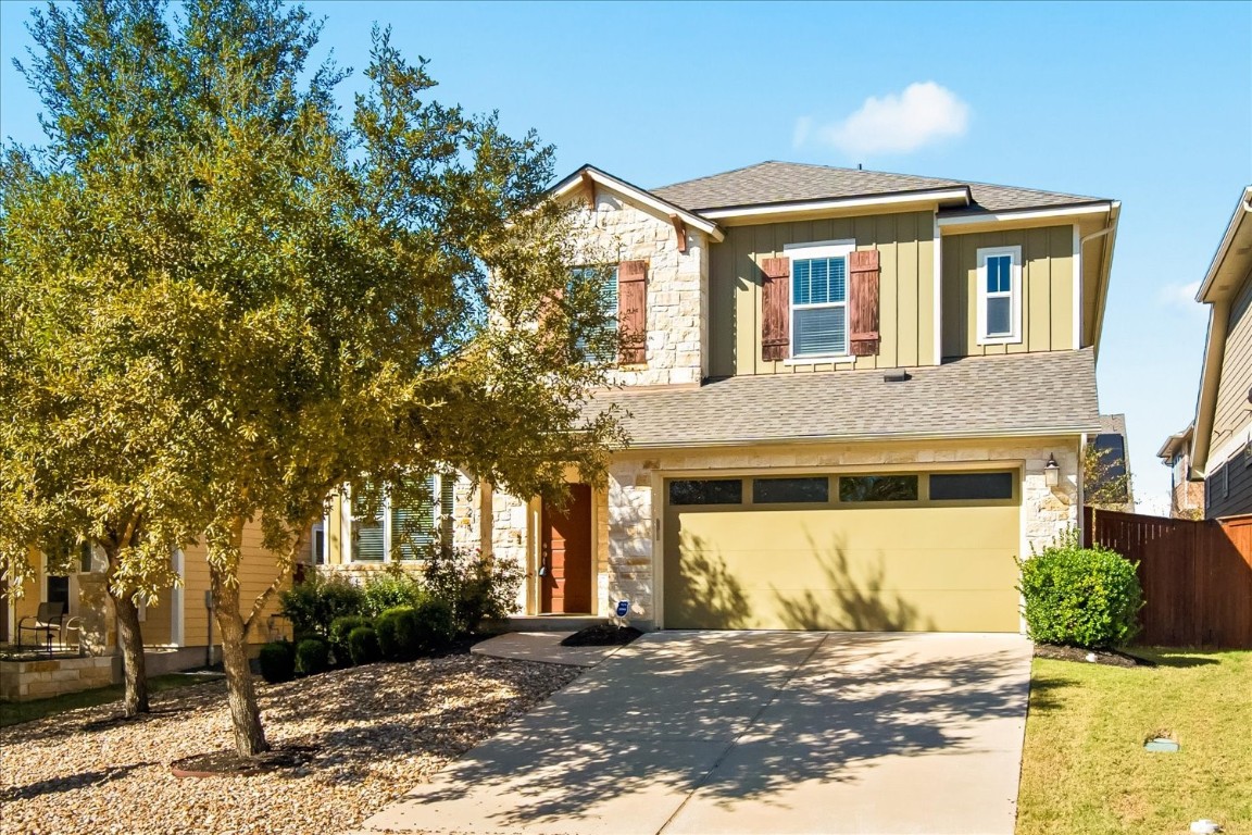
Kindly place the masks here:
<instances>
[{"instance_id":1,"label":"bright blue sky above the houses and tree","mask_svg":"<svg viewBox=\"0 0 1252 835\"><path fill-rule=\"evenodd\" d=\"M0 4L0 134L23 143L30 5ZM1193 285L1252 183L1252 3L307 5L348 66L391 25L441 99L537 129L558 174L655 187L784 159L1122 200L1101 406L1127 414L1138 493L1167 492L1154 453L1193 416L1207 327Z\"/></svg>"}]
</instances>

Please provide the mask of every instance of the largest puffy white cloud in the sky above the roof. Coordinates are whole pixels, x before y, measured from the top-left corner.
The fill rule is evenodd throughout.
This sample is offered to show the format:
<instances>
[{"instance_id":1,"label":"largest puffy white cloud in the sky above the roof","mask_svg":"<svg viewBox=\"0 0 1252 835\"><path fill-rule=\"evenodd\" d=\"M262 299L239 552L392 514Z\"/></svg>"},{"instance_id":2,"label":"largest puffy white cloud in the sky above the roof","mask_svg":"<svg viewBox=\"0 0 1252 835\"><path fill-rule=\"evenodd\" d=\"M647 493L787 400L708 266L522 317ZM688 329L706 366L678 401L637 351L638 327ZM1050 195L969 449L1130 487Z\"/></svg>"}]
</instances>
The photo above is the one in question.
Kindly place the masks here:
<instances>
[{"instance_id":1,"label":"largest puffy white cloud in the sky above the roof","mask_svg":"<svg viewBox=\"0 0 1252 835\"><path fill-rule=\"evenodd\" d=\"M963 136L969 128L969 105L934 81L919 81L903 93L870 96L859 110L834 124L796 120L796 146L809 140L833 145L853 155L908 154L942 139Z\"/></svg>"}]
</instances>

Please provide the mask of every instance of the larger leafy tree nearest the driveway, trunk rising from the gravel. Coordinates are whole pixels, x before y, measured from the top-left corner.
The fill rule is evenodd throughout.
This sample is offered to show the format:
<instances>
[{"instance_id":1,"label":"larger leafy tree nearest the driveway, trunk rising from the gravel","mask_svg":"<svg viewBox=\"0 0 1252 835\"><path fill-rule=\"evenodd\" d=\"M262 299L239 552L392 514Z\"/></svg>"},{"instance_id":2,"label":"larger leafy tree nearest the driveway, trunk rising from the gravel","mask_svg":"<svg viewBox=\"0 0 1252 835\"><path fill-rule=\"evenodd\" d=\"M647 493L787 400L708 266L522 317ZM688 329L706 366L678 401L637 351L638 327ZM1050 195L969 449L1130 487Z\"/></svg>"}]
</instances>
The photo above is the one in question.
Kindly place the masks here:
<instances>
[{"instance_id":1,"label":"larger leafy tree nearest the driveway, trunk rising from the gravel","mask_svg":"<svg viewBox=\"0 0 1252 835\"><path fill-rule=\"evenodd\" d=\"M0 319L26 351L99 317L99 344L80 349L104 352L116 386L96 401L113 436L39 436L33 419L31 444L125 462L114 478L144 522L119 563L135 583L168 582L162 548L204 542L235 746L253 755L268 744L244 636L329 493L352 482L368 512L384 488L428 501L437 467L547 496L567 464L602 473L620 429L582 406L606 382L587 356L613 356L616 336L602 277L570 264L610 258L571 249L568 212L545 194L552 149L436 101L426 61L386 31L344 120L344 73L308 66L318 25L299 6L84 0L34 21L25 73L48 145L8 156ZM33 313L48 292L65 303ZM40 366L13 361L18 402ZM58 403L61 373L40 379ZM162 419L134 426L131 386ZM6 493L75 489L11 471ZM253 521L275 577L245 613Z\"/></svg>"}]
</instances>

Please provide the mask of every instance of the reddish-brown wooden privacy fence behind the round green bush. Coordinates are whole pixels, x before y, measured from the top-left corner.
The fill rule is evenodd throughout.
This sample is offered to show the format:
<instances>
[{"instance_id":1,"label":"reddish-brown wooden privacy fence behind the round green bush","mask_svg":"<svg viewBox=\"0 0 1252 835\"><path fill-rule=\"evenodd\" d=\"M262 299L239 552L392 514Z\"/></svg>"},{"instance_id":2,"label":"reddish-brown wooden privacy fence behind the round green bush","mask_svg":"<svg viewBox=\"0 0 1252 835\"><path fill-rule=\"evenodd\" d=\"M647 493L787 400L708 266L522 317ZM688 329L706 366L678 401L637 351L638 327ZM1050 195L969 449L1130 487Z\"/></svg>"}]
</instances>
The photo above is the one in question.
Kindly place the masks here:
<instances>
[{"instance_id":1,"label":"reddish-brown wooden privacy fence behind the round green bush","mask_svg":"<svg viewBox=\"0 0 1252 835\"><path fill-rule=\"evenodd\" d=\"M1083 508L1085 545L1139 563L1138 642L1252 648L1252 516L1216 521Z\"/></svg>"}]
</instances>

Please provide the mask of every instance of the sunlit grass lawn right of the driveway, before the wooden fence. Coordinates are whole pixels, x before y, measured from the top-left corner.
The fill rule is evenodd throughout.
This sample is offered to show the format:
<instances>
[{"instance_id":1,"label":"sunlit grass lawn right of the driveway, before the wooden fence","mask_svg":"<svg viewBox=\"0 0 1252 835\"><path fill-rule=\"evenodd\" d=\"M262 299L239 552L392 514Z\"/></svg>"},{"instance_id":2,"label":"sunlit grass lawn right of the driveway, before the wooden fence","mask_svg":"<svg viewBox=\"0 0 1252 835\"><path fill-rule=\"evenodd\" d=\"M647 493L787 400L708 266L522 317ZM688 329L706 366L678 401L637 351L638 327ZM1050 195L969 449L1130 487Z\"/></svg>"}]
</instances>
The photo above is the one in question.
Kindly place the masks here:
<instances>
[{"instance_id":1,"label":"sunlit grass lawn right of the driveway, before the wooden fence","mask_svg":"<svg viewBox=\"0 0 1252 835\"><path fill-rule=\"evenodd\" d=\"M1034 660L1018 835L1252 835L1252 652L1137 653L1161 666ZM1144 751L1157 735L1182 751Z\"/></svg>"}]
</instances>

